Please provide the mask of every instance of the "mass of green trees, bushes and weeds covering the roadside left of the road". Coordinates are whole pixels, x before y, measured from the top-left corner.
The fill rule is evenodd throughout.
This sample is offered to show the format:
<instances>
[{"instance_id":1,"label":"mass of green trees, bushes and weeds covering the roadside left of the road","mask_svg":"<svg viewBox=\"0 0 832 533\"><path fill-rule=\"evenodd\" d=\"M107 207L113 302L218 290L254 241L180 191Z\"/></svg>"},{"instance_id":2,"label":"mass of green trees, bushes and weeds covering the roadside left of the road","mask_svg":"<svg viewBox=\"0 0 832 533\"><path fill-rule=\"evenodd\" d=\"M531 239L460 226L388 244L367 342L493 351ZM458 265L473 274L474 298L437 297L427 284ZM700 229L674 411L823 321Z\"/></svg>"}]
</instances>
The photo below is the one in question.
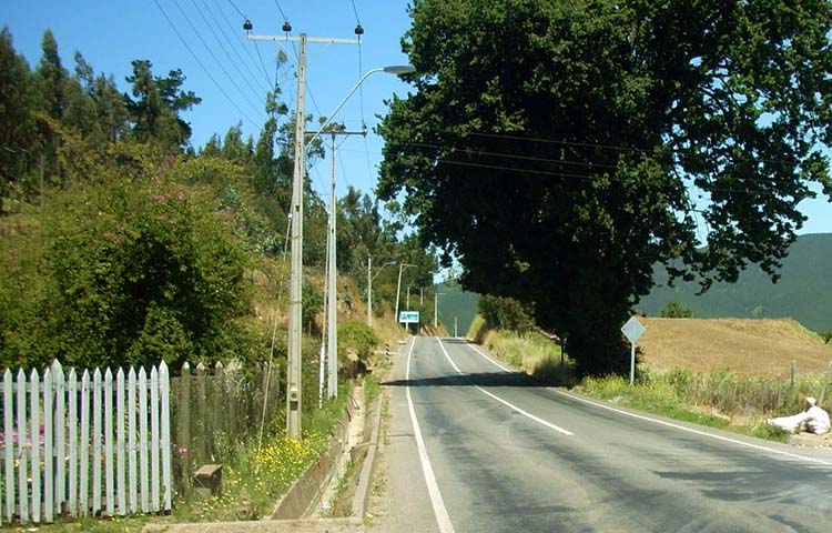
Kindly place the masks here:
<instances>
[{"instance_id":1,"label":"mass of green trees, bushes and weeds covering the roadside left of the road","mask_svg":"<svg viewBox=\"0 0 832 533\"><path fill-rule=\"evenodd\" d=\"M95 74L80 52L68 70L50 31L42 52L30 68L11 31L0 31L0 124L8 127L0 135L0 369L42 369L55 359L65 369L165 361L177 380L184 363L222 363L246 384L256 384L265 368L275 369L268 410L237 416L241 428L233 435L207 431L194 416L190 435L211 442L210 452L197 454L177 441L174 469L182 475L174 483L173 512L153 520L267 516L326 446L351 380L371 365L378 339L395 331L393 268L374 272L377 330L364 325L367 257L379 265L409 264L403 281L430 288L434 253L404 231L395 202L386 219L377 201L353 188L338 199L343 390L338 401L318 409L327 213L323 199L306 188L303 439L288 439L286 213L294 115L280 101L280 87L264 95L267 119L256 139L244 138L237 124L194 147L182 114L200 98L186 90L181 70L159 76L150 60L135 60L121 92L112 76ZM318 144L307 162L323 157ZM428 289L425 301L433 300ZM425 320L432 312L433 305L422 310ZM205 381L214 386L211 376ZM246 392L251 400L254 390ZM216 398L222 402L199 402L192 414L219 419L216 411L232 400ZM174 412L183 403L172 395ZM189 476L206 463L223 465L222 497L199 500L191 491ZM148 520L72 521L45 531L132 531Z\"/></svg>"}]
</instances>

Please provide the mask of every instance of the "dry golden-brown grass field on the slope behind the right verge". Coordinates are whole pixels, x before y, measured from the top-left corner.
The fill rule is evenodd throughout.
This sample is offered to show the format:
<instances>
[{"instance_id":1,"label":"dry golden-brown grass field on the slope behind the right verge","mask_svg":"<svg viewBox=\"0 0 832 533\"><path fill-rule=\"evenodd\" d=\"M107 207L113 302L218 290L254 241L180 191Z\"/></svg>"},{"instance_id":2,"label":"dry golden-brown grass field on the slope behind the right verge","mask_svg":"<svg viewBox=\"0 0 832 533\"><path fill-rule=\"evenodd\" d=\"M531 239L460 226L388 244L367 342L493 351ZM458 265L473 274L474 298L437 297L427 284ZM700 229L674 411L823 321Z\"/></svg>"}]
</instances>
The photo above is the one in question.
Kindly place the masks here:
<instances>
[{"instance_id":1,"label":"dry golden-brown grass field on the slope behind the right verge","mask_svg":"<svg viewBox=\"0 0 832 533\"><path fill-rule=\"evenodd\" d=\"M643 363L653 370L732 370L744 375L788 378L819 373L832 360L832 344L793 320L639 318Z\"/></svg>"}]
</instances>

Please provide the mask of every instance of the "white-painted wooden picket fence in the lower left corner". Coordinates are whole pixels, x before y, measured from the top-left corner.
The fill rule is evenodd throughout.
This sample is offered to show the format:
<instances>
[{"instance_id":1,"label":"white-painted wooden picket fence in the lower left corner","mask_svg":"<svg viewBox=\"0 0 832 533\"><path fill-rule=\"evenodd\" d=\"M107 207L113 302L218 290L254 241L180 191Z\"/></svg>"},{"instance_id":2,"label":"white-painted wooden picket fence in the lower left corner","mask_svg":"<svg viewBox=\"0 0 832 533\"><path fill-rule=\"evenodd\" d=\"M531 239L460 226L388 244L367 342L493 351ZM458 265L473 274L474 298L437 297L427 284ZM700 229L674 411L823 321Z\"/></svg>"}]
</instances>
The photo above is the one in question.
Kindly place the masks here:
<instances>
[{"instance_id":1,"label":"white-painted wooden picket fence in the lower left corner","mask_svg":"<svg viewBox=\"0 0 832 533\"><path fill-rule=\"evenodd\" d=\"M0 522L170 511L170 376L55 361L3 373Z\"/></svg>"}]
</instances>

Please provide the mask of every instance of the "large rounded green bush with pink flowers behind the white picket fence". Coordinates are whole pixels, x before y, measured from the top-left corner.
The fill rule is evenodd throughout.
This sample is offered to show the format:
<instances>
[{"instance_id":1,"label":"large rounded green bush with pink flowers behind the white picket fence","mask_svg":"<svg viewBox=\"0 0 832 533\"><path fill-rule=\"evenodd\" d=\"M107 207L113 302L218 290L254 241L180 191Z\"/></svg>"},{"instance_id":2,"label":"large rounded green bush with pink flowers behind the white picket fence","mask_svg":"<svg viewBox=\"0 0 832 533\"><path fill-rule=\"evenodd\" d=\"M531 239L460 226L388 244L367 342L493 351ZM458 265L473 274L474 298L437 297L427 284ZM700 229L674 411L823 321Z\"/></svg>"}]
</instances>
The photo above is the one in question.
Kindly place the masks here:
<instances>
[{"instance_id":1,"label":"large rounded green bush with pink flowers behind the white picket fence","mask_svg":"<svg viewBox=\"0 0 832 533\"><path fill-rule=\"evenodd\" d=\"M0 302L3 365L149 365L246 359L235 319L248 311L247 255L209 190L163 178L83 185L55 197L7 253ZM24 238L21 237L22 241ZM27 280L26 285L19 285ZM7 298L9 296L9 298ZM11 298L13 296L13 298ZM2 313L0 313L2 314ZM37 350L29 350L37 346Z\"/></svg>"}]
</instances>

